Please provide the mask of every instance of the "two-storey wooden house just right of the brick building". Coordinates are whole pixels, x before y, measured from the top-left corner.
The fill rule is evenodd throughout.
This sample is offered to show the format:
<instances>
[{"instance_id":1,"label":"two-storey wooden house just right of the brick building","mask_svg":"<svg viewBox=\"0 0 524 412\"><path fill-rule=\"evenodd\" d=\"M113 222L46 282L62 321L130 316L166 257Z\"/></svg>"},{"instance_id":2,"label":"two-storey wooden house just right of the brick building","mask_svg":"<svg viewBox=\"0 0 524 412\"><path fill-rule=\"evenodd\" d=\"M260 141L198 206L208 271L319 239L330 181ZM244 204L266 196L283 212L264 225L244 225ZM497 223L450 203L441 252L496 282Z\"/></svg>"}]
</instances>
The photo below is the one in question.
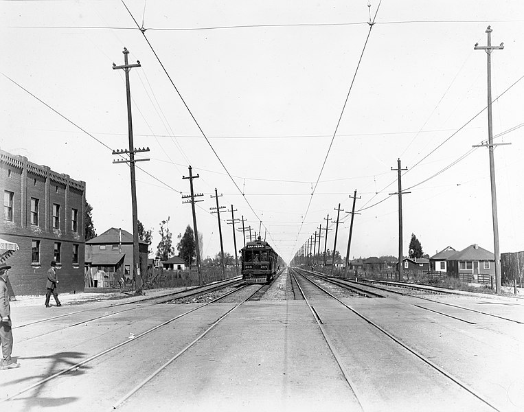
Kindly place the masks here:
<instances>
[{"instance_id":1,"label":"two-storey wooden house just right of the brick building","mask_svg":"<svg viewBox=\"0 0 524 412\"><path fill-rule=\"evenodd\" d=\"M139 241L139 267L144 277L148 269L147 242ZM111 227L90 239L85 247L85 282L88 287L112 287L124 279L133 280L133 235ZM97 282L95 282L95 280Z\"/></svg>"}]
</instances>

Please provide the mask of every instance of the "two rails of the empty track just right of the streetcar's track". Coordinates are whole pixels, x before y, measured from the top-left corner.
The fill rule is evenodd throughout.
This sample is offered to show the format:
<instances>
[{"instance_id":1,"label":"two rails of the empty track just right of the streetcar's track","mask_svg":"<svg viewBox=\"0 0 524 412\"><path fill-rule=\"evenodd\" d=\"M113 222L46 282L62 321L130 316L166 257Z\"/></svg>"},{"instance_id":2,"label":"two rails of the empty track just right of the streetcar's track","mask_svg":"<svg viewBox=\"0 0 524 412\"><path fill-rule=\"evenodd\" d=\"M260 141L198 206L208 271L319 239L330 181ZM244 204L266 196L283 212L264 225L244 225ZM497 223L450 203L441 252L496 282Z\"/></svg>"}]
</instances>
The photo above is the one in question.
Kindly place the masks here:
<instances>
[{"instance_id":1,"label":"two rails of the empty track just right of the streetcar's track","mask_svg":"<svg viewBox=\"0 0 524 412\"><path fill-rule=\"evenodd\" d=\"M390 343L393 343L394 345L397 345L397 347L402 347L403 350L405 350L405 352L407 352L407 354L413 356L414 358L418 359L419 361L422 361L422 363L424 363L425 365L427 365L428 367L430 367L431 369L436 371L438 374L440 374L440 376L444 380L446 380L448 382L452 382L453 385L457 385L457 387L460 388L460 390L465 391L468 394L467 396L472 396L478 402L480 402L480 404L482 405L483 409L492 410L492 411L501 411L501 409L499 407L497 407L497 405L495 405L494 402L492 402L492 400L489 400L488 398L486 398L486 396L483 396L482 393L479 393L479 391L477 391L476 389L470 387L470 385L467 385L465 382L463 382L462 380L457 378L457 376L453 376L453 374L451 374L448 371L446 371L440 365L437 365L437 363L432 361L427 356L424 356L424 354L422 354L420 351L416 350L414 347L411 347L405 341L402 341L401 339L398 339L393 333L389 332L388 330L386 330L382 326L378 325L378 323L376 323L375 321L373 321L369 317L365 316L365 314L363 314L361 311L356 310L356 309L352 308L351 306L349 306L348 304L346 304L344 301L341 301L341 299L339 299L338 297L334 296L328 290L326 290L321 285L319 285L317 282L315 282L315 279L311 279L310 276L305 276L305 275L301 274L300 271L297 271L297 270L293 270L292 271L292 275L293 275L293 277L295 277L295 279L296 279L296 277L299 277L299 279L301 279L301 281L296 279L297 284L299 284L299 288L301 290L301 293L304 294L304 299L306 300L306 303L310 307L310 310L311 310L313 316L315 317L315 320L317 321L317 324L319 325L319 328L321 329L321 332L322 332L323 336L325 337L326 342L328 343L328 346L330 347L330 350L332 350L333 356L337 359L337 363L339 363L340 369L341 369L343 375L345 376L345 379L347 380L348 385L350 385L352 391L354 392L356 398L358 399L358 403L361 405L361 408L362 408L363 411L366 411L368 409L369 410L374 410L376 408L371 403L368 403L368 402L370 402L369 398L366 399L365 396L363 395L363 393L361 393L361 391L359 390L358 385L356 385L355 382L353 382L353 380L352 380L353 379L352 378L353 374L352 374L352 371L350 370L350 367L349 367L350 363L348 361L346 361L343 358L343 356L341 356L339 354L339 352L337 352L337 348L332 343L332 338L326 332L326 326L324 325L324 321L322 320L321 316L319 315L319 312L321 310L321 308L319 307L319 303L318 303L319 299L318 298L315 299L315 301L317 301L316 307L314 307L314 306L312 306L312 304L310 304L310 301L309 301L308 297L306 297L306 292L304 292L304 282L308 282L308 284L310 286L316 288L316 290L321 290L321 292L324 295L332 297L332 299L334 299L337 302L339 302L339 304L343 308L347 309L351 314L356 315L356 317L358 317L359 319L364 321L363 324L367 325L367 328L372 328L373 330L378 332L381 336L383 336L385 339L387 339ZM302 283L303 286L300 286L301 283ZM312 293L311 289L309 289L309 290L310 290L310 293ZM358 330L360 330L360 328ZM444 385L446 385L446 384L444 383ZM476 409L478 406L477 407L473 407L473 405L471 404L470 407L473 408L472 410L478 410L478 409Z\"/></svg>"}]
</instances>

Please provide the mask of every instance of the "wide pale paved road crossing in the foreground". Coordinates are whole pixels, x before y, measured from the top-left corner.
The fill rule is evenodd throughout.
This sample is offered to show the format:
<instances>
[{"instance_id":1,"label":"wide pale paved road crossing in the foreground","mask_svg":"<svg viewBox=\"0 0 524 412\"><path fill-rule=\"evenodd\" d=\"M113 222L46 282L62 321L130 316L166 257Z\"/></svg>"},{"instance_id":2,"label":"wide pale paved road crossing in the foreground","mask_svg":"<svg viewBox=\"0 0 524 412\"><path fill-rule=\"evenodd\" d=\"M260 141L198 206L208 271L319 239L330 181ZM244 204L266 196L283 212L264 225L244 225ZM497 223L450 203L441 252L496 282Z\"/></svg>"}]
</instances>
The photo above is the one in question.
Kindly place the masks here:
<instances>
[{"instance_id":1,"label":"wide pale paved road crossing in the foreground","mask_svg":"<svg viewBox=\"0 0 524 412\"><path fill-rule=\"evenodd\" d=\"M15 326L43 321L14 329L14 356L22 367L0 371L0 399L23 393L0 407L110 411L150 378L117 410L524 410L524 324L508 320L524 322L517 299L431 296L432 301L422 301L345 293L341 301L352 311L304 286L335 356L306 301L293 299L297 290L287 273L262 299L242 304L257 287L202 308L200 301L152 305L136 298L127 306L98 301L52 312L14 306ZM45 321L49 313L71 315ZM105 350L110 351L76 367Z\"/></svg>"}]
</instances>

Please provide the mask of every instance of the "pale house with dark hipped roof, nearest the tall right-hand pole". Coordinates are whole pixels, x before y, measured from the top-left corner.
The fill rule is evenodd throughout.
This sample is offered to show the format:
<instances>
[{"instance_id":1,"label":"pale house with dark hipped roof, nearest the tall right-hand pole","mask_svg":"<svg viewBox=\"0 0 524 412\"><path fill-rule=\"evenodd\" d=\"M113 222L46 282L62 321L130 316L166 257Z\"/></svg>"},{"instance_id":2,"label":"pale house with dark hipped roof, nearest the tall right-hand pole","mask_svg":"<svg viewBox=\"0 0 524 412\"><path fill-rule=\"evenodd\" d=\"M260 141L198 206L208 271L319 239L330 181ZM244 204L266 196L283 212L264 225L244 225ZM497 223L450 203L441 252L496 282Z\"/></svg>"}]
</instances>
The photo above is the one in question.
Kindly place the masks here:
<instances>
[{"instance_id":1,"label":"pale house with dark hipped roof, nearest the tall right-hand pole","mask_svg":"<svg viewBox=\"0 0 524 412\"><path fill-rule=\"evenodd\" d=\"M454 253L447 259L448 276L459 277L465 282L490 282L495 274L495 255L478 244Z\"/></svg>"}]
</instances>

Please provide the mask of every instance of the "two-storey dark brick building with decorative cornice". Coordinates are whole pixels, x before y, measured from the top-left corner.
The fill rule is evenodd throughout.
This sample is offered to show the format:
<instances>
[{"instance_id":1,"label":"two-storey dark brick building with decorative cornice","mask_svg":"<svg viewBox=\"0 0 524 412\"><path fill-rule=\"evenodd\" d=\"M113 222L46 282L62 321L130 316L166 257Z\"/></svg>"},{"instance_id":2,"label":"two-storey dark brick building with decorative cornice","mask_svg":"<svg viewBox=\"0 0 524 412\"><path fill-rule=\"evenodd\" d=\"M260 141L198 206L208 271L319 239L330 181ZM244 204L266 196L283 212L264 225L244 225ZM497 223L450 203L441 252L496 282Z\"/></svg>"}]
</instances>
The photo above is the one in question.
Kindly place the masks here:
<instances>
[{"instance_id":1,"label":"two-storey dark brick building with decorative cornice","mask_svg":"<svg viewBox=\"0 0 524 412\"><path fill-rule=\"evenodd\" d=\"M60 292L84 290L85 183L0 150L0 238L18 244L7 264L16 295L43 295L56 260Z\"/></svg>"}]
</instances>

